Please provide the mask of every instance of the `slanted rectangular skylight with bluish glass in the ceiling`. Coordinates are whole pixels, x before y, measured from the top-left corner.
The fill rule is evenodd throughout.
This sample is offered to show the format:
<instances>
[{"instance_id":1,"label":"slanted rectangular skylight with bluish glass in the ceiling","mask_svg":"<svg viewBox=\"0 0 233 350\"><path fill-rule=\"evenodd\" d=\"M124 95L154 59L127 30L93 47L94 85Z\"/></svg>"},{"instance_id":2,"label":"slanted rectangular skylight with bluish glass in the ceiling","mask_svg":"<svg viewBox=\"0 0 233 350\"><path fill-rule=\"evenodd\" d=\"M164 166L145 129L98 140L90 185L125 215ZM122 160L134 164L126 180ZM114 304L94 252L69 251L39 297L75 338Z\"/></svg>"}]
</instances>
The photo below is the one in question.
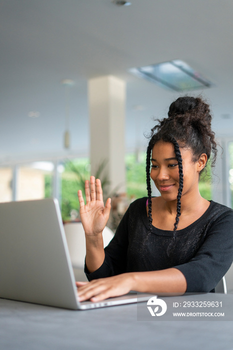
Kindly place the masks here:
<instances>
[{"instance_id":1,"label":"slanted rectangular skylight with bluish glass in the ceiling","mask_svg":"<svg viewBox=\"0 0 233 350\"><path fill-rule=\"evenodd\" d=\"M175 91L195 90L213 84L180 59L131 68L129 72Z\"/></svg>"}]
</instances>

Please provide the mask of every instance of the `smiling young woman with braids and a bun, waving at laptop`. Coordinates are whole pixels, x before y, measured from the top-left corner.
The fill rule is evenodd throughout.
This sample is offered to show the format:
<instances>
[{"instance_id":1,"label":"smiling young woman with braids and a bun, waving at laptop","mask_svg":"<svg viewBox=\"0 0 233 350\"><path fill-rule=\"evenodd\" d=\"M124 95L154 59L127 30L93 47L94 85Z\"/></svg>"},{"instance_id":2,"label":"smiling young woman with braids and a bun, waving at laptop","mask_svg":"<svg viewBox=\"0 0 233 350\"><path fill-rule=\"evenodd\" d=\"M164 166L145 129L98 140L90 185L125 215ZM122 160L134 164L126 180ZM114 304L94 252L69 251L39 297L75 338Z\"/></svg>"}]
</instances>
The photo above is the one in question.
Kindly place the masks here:
<instances>
[{"instance_id":1,"label":"smiling young woman with braids and a bun, waving at laptop","mask_svg":"<svg viewBox=\"0 0 233 350\"><path fill-rule=\"evenodd\" d=\"M85 182L86 205L78 191L90 281L76 282L81 301L129 290L214 291L232 263L233 210L202 198L198 190L199 176L217 152L209 106L200 98L179 97L151 131L148 198L130 204L105 249L110 198L104 206L100 180L93 176ZM150 178L158 197L151 197Z\"/></svg>"}]
</instances>

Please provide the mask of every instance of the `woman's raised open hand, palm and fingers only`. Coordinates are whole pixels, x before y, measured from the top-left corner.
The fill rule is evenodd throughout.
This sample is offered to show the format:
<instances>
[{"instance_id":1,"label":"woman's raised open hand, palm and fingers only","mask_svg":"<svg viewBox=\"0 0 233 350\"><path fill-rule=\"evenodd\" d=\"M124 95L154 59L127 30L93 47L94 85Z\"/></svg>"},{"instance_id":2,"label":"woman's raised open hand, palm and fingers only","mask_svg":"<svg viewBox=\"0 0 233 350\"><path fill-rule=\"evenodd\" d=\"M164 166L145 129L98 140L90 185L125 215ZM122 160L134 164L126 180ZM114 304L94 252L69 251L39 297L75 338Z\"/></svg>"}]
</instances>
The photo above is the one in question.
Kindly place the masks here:
<instances>
[{"instance_id":1,"label":"woman's raised open hand, palm and fingers only","mask_svg":"<svg viewBox=\"0 0 233 350\"><path fill-rule=\"evenodd\" d=\"M98 178L90 176L90 181L85 181L86 204L82 192L77 192L80 203L80 217L86 235L94 236L102 232L105 227L111 208L111 199L108 198L104 206L101 182Z\"/></svg>"}]
</instances>

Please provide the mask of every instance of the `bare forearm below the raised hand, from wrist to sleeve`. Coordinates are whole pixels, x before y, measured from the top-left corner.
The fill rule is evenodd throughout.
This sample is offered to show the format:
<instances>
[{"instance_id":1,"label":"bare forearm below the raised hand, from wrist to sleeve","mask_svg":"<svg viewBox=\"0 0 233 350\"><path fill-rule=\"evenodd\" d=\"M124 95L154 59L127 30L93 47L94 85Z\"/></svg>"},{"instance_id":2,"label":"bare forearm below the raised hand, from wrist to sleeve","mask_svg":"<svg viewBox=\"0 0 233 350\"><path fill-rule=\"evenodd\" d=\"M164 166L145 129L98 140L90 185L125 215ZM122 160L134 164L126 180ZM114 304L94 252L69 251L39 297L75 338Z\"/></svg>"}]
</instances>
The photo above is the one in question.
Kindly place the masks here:
<instances>
[{"instance_id":1,"label":"bare forearm below the raised hand, from wrist to sleeve","mask_svg":"<svg viewBox=\"0 0 233 350\"><path fill-rule=\"evenodd\" d=\"M89 273L91 273L101 266L105 257L102 234L100 233L97 236L86 236L85 240L85 263Z\"/></svg>"}]
</instances>

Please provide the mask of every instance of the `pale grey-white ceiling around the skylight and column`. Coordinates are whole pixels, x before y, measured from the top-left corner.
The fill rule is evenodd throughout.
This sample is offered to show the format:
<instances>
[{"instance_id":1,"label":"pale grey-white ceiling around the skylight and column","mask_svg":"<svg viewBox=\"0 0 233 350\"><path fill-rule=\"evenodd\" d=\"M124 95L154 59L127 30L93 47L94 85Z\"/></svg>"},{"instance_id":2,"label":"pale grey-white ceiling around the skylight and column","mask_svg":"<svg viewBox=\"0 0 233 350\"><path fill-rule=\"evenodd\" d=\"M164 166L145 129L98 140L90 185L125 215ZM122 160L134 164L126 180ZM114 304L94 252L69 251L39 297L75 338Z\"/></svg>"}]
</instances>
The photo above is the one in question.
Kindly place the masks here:
<instances>
[{"instance_id":1,"label":"pale grey-white ceiling around the skylight and column","mask_svg":"<svg viewBox=\"0 0 233 350\"><path fill-rule=\"evenodd\" d=\"M0 162L88 154L87 80L106 74L127 83L126 149L144 147L151 118L179 94L127 70L175 58L215 84L194 94L210 101L217 135L231 137L232 15L232 0L0 0ZM64 78L75 81L69 151Z\"/></svg>"}]
</instances>

